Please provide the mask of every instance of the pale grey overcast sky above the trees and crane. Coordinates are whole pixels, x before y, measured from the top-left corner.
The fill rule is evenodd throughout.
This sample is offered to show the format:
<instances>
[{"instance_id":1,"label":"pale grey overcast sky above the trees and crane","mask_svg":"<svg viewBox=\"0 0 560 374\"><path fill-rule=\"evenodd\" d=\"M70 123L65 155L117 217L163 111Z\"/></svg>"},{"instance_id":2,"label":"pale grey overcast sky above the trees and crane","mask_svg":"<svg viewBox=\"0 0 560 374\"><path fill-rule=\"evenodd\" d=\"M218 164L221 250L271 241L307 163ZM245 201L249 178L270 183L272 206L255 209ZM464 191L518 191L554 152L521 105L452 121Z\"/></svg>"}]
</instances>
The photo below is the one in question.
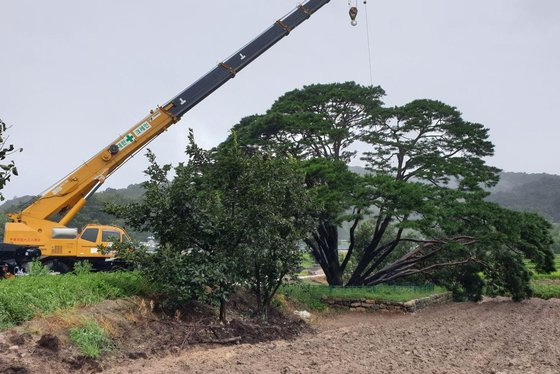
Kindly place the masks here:
<instances>
[{"instance_id":1,"label":"pale grey overcast sky above the trees and crane","mask_svg":"<svg viewBox=\"0 0 560 374\"><path fill-rule=\"evenodd\" d=\"M353 0L354 1L354 0ZM294 0L0 0L0 118L39 194L290 11ZM240 118L311 83L369 84L365 10L331 0L151 145L185 159L189 127L211 147ZM373 79L385 103L454 105L490 128L491 164L560 174L560 1L369 0ZM136 156L105 187L143 181Z\"/></svg>"}]
</instances>

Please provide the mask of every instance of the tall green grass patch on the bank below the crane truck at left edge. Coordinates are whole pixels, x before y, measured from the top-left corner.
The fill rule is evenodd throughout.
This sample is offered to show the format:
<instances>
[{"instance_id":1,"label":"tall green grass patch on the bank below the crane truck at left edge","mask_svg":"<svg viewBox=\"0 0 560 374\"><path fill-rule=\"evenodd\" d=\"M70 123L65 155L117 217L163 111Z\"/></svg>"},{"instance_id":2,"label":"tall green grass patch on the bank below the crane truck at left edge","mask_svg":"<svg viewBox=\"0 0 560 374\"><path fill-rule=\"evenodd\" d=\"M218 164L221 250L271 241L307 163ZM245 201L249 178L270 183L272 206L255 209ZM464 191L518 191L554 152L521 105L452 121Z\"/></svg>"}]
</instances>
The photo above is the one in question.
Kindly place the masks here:
<instances>
[{"instance_id":1,"label":"tall green grass patch on the bank below the crane truck at left edge","mask_svg":"<svg viewBox=\"0 0 560 374\"><path fill-rule=\"evenodd\" d=\"M0 330L38 315L146 292L135 272L40 275L0 281Z\"/></svg>"}]
</instances>

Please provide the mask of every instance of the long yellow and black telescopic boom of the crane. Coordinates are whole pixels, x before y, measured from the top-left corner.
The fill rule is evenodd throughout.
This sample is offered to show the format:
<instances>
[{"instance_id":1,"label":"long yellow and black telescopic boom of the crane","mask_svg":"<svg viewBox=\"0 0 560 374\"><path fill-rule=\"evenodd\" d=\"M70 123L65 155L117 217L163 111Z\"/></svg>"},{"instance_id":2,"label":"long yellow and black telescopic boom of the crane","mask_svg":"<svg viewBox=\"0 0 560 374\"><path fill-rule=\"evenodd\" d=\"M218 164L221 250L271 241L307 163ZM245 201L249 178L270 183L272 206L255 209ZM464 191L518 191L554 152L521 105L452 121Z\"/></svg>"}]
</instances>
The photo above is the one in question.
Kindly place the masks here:
<instances>
[{"instance_id":1,"label":"long yellow and black telescopic boom of the crane","mask_svg":"<svg viewBox=\"0 0 560 374\"><path fill-rule=\"evenodd\" d=\"M83 207L85 199L93 194L111 173L329 1L309 0L299 5L163 107L151 111L107 148L11 218L16 222L42 221L48 220L56 213L63 213L58 223L66 225Z\"/></svg>"}]
</instances>

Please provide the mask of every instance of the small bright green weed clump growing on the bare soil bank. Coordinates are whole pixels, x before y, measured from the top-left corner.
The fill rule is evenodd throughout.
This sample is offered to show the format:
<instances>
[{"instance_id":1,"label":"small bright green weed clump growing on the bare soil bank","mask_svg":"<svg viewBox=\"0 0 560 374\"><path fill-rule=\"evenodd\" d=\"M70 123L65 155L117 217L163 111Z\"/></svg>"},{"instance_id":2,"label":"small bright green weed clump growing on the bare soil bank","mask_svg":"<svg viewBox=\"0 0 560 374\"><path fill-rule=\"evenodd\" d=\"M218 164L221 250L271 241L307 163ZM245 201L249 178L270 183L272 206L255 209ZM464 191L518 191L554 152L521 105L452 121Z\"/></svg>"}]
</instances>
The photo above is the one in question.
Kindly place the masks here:
<instances>
[{"instance_id":1,"label":"small bright green weed clump growing on the bare soil bank","mask_svg":"<svg viewBox=\"0 0 560 374\"><path fill-rule=\"evenodd\" d=\"M86 321L80 327L71 328L68 337L86 357L99 358L111 350L109 335L95 321Z\"/></svg>"}]
</instances>

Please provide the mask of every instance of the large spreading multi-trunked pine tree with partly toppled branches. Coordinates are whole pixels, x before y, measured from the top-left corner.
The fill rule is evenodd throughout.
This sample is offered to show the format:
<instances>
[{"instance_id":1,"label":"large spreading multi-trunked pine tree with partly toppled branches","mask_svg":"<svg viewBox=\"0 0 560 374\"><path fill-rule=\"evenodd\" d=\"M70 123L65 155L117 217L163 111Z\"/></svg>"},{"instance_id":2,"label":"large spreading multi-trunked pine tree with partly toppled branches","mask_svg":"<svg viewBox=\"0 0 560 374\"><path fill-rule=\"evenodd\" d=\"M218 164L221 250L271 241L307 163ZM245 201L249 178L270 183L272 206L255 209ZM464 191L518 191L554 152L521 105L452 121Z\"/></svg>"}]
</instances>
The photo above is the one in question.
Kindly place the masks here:
<instances>
[{"instance_id":1,"label":"large spreading multi-trunked pine tree with partly toppled branches","mask_svg":"<svg viewBox=\"0 0 560 374\"><path fill-rule=\"evenodd\" d=\"M382 95L351 82L294 90L266 114L243 119L238 138L222 147L238 140L302 161L306 185L324 207L305 242L331 285L437 278L461 298L479 299L484 290L529 297L524 259L554 269L550 225L484 200L499 172L485 163L494 152L488 129L440 101L384 108ZM367 146L365 175L348 167L357 141ZM357 238L365 219L373 230ZM345 221L350 248L339 258Z\"/></svg>"}]
</instances>

